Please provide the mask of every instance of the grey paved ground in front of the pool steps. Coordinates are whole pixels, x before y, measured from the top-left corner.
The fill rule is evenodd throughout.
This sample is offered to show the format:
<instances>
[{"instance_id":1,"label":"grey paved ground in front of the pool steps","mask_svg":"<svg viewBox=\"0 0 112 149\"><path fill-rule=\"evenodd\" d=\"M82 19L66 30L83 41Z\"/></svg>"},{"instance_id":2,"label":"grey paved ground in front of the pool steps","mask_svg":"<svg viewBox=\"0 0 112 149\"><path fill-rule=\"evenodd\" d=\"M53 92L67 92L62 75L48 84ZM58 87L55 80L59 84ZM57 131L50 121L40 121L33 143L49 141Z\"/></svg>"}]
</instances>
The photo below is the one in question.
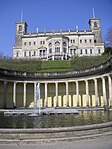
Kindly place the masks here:
<instances>
[{"instance_id":1,"label":"grey paved ground in front of the pool steps","mask_svg":"<svg viewBox=\"0 0 112 149\"><path fill-rule=\"evenodd\" d=\"M112 149L112 136L37 144L0 144L0 149Z\"/></svg>"}]
</instances>

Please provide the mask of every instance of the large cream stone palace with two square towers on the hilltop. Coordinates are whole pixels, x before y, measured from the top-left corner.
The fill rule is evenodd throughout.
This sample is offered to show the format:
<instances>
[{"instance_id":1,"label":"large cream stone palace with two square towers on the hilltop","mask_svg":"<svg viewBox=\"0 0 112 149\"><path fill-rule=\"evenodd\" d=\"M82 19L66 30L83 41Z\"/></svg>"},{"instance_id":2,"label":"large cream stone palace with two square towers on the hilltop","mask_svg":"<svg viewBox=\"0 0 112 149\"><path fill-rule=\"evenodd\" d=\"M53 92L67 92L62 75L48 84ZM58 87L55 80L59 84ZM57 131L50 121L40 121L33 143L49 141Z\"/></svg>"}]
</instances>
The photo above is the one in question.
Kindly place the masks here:
<instances>
[{"instance_id":1,"label":"large cream stone palace with two square towers on the hilltop","mask_svg":"<svg viewBox=\"0 0 112 149\"><path fill-rule=\"evenodd\" d=\"M26 22L16 22L13 59L66 60L76 56L98 56L104 52L99 18L89 19L89 30L27 32Z\"/></svg>"}]
</instances>

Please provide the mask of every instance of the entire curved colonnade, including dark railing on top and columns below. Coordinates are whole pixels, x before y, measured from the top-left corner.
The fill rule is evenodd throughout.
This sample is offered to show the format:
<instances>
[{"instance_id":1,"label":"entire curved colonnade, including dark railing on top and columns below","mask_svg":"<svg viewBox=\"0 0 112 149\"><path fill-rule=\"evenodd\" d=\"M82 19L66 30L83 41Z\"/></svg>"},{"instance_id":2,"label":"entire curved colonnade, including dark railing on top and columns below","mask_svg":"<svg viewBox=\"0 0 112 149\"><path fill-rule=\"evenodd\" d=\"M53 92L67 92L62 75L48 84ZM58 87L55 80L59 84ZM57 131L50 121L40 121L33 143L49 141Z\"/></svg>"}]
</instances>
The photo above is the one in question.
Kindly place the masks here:
<instances>
[{"instance_id":1,"label":"entire curved colonnade, including dark railing on top and columns below","mask_svg":"<svg viewBox=\"0 0 112 149\"><path fill-rule=\"evenodd\" d=\"M28 73L0 69L0 108L112 106L112 58L89 69Z\"/></svg>"}]
</instances>

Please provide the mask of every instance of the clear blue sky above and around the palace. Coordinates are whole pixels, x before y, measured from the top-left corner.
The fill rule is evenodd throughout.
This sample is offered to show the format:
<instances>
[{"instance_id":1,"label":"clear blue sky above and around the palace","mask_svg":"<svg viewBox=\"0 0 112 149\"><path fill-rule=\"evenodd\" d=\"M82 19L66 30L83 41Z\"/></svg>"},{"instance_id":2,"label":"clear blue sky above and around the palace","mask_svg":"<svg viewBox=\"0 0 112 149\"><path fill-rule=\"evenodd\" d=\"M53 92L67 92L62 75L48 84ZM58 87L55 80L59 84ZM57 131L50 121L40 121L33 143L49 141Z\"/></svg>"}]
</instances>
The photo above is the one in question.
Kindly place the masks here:
<instances>
[{"instance_id":1,"label":"clear blue sky above and around the palace","mask_svg":"<svg viewBox=\"0 0 112 149\"><path fill-rule=\"evenodd\" d=\"M21 20L28 24L28 32L62 30L89 30L88 21L101 19L103 40L112 28L112 0L0 0L0 54L12 57L15 44L15 23Z\"/></svg>"}]
</instances>

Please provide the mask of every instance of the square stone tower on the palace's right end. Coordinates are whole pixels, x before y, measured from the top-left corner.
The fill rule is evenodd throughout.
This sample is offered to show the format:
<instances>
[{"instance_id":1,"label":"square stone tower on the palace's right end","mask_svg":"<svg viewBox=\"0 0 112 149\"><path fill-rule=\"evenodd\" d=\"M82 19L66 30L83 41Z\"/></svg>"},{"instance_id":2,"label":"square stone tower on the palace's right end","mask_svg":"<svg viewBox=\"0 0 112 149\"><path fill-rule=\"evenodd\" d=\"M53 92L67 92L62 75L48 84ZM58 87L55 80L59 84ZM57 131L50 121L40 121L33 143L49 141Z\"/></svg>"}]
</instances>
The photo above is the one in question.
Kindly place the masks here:
<instances>
[{"instance_id":1,"label":"square stone tower on the palace's right end","mask_svg":"<svg viewBox=\"0 0 112 149\"><path fill-rule=\"evenodd\" d=\"M95 17L89 19L89 27L90 30L95 34L94 42L102 43L100 19Z\"/></svg>"}]
</instances>

